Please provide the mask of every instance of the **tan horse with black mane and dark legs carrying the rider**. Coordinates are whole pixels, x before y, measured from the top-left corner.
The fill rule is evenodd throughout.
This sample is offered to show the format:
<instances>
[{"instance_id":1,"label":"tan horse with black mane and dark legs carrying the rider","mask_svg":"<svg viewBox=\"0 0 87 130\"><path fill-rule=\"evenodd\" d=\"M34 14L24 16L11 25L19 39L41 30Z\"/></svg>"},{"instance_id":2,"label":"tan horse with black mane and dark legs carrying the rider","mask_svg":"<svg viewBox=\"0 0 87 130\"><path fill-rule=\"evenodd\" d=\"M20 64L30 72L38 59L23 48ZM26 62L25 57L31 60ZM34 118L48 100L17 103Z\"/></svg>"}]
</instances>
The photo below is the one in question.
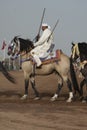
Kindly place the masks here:
<instances>
[{"instance_id":1,"label":"tan horse with black mane and dark legs carrying the rider","mask_svg":"<svg viewBox=\"0 0 87 130\"><path fill-rule=\"evenodd\" d=\"M22 99L26 99L28 96L28 85L29 81L35 92L35 99L40 98L39 92L35 86L34 76L46 76L53 73L58 75L58 88L56 93L51 97L51 101L57 100L60 90L63 87L63 81L67 84L69 89L69 97L67 102L71 102L74 97L74 92L72 88L72 82L74 84L75 92L79 93L78 84L75 82L74 68L71 63L71 59L60 50L60 59L56 59L48 64L43 64L40 68L34 67L33 58L30 56L30 51L34 48L34 44L30 39L23 39L21 37L15 36L9 46L8 46L8 55L12 56L13 59L17 56L21 56L21 67L24 72L25 80L25 93L22 96ZM51 54L52 55L52 54ZM70 77L70 76L71 77ZM71 80L72 79L72 80Z\"/></svg>"}]
</instances>

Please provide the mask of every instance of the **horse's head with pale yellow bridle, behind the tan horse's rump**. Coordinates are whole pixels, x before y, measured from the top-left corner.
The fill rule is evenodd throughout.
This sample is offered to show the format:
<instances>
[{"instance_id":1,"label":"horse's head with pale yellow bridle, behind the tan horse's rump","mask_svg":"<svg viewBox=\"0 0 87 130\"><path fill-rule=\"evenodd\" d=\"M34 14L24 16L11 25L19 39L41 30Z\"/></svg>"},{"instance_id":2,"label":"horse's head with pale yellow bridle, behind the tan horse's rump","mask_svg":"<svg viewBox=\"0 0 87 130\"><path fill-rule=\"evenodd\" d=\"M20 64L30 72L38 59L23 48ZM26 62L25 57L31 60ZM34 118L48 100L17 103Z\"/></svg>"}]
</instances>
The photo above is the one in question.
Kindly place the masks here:
<instances>
[{"instance_id":1,"label":"horse's head with pale yellow bridle, behind the tan horse's rump","mask_svg":"<svg viewBox=\"0 0 87 130\"><path fill-rule=\"evenodd\" d=\"M72 43L71 51L72 51L71 54L72 60L75 62L80 56L78 44Z\"/></svg>"}]
</instances>

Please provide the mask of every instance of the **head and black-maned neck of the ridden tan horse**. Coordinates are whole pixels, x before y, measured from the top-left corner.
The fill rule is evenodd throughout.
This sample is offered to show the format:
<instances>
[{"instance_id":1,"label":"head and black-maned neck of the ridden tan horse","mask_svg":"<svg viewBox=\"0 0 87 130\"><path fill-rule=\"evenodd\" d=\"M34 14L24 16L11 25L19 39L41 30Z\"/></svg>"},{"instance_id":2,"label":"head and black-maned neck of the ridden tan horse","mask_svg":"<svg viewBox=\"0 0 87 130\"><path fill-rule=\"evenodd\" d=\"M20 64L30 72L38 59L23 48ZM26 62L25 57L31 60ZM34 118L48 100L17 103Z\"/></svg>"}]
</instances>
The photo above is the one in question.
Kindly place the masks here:
<instances>
[{"instance_id":1,"label":"head and black-maned neck of the ridden tan horse","mask_svg":"<svg viewBox=\"0 0 87 130\"><path fill-rule=\"evenodd\" d=\"M20 54L21 52L29 52L34 48L33 42L29 39L22 39L15 36L8 46L8 55L14 56L15 54Z\"/></svg>"}]
</instances>

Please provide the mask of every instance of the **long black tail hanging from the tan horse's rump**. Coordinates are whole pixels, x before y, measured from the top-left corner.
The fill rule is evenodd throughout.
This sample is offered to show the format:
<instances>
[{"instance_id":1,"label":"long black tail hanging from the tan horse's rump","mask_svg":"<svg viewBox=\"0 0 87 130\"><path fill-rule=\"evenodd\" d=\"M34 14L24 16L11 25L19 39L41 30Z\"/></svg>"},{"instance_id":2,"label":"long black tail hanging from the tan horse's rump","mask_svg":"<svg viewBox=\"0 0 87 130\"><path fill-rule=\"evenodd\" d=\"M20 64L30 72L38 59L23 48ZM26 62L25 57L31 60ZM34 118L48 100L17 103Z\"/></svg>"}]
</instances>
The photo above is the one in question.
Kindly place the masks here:
<instances>
[{"instance_id":1,"label":"long black tail hanging from the tan horse's rump","mask_svg":"<svg viewBox=\"0 0 87 130\"><path fill-rule=\"evenodd\" d=\"M80 95L79 85L78 85L78 81L77 81L76 73L74 71L74 66L73 66L71 57L70 57L70 75L71 75L71 80L72 80L72 84L73 84L73 87L74 87L75 94L76 94L76 91L77 91Z\"/></svg>"}]
</instances>

